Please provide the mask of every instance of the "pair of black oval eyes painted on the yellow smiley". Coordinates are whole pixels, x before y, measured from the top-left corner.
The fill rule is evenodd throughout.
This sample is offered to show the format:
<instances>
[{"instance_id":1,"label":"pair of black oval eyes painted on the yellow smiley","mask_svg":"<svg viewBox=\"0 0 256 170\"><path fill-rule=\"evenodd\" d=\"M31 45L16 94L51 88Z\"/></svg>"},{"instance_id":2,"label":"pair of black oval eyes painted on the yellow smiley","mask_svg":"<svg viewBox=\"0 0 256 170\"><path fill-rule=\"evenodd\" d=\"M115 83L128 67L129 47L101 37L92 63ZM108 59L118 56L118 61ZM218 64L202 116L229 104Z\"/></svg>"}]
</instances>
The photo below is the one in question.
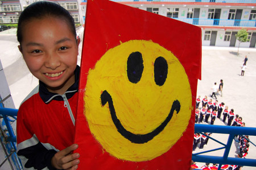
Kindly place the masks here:
<instances>
[{"instance_id":1,"label":"pair of black oval eyes painted on the yellow smiley","mask_svg":"<svg viewBox=\"0 0 256 170\"><path fill-rule=\"evenodd\" d=\"M143 72L143 59L140 52L133 52L127 60L127 77L130 82L137 83L141 80ZM158 57L154 63L155 83L162 86L166 81L168 64L164 57Z\"/></svg>"}]
</instances>

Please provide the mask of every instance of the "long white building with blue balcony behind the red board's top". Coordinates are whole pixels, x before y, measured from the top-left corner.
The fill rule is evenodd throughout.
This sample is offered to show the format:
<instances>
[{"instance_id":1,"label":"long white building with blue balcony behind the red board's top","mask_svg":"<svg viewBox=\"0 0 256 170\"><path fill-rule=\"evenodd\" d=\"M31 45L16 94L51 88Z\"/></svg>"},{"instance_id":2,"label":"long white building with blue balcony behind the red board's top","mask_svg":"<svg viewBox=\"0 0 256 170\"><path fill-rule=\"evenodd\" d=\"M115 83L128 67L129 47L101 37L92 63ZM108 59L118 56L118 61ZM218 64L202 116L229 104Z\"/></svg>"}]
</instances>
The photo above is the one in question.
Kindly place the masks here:
<instances>
[{"instance_id":1,"label":"long white building with blue balcony behind the red board's top","mask_svg":"<svg viewBox=\"0 0 256 170\"><path fill-rule=\"evenodd\" d=\"M236 34L244 28L248 38L247 42L240 44L240 47L255 48L255 0L113 1L199 26L202 30L202 45L238 47ZM82 1L81 6L86 6L86 1ZM85 11L82 14L85 18Z\"/></svg>"}]
</instances>

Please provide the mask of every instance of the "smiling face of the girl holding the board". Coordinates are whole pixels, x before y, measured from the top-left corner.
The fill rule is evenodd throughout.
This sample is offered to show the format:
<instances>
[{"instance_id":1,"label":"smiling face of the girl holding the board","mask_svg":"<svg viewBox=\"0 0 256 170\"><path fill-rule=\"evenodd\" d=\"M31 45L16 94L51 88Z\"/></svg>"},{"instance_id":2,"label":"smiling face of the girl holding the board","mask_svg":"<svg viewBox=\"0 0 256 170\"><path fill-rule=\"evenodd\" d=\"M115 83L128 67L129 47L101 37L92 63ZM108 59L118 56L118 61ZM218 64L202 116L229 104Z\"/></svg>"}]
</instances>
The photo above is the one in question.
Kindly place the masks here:
<instances>
[{"instance_id":1,"label":"smiling face of the girl holding the board","mask_svg":"<svg viewBox=\"0 0 256 170\"><path fill-rule=\"evenodd\" d=\"M30 72L49 92L63 94L75 82L79 40L59 18L33 19L23 26L19 45Z\"/></svg>"}]
</instances>

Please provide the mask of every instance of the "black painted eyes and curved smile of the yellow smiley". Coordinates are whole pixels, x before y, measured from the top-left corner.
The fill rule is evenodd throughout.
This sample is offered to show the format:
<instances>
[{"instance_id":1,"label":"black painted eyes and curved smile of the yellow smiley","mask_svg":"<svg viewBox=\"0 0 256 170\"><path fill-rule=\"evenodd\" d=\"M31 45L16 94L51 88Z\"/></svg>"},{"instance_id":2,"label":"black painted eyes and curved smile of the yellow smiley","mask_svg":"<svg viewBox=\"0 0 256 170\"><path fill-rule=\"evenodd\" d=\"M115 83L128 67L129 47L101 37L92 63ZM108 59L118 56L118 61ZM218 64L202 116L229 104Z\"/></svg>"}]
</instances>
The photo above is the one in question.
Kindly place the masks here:
<instances>
[{"instance_id":1,"label":"black painted eyes and curved smile of the yellow smiley","mask_svg":"<svg viewBox=\"0 0 256 170\"><path fill-rule=\"evenodd\" d=\"M127 77L130 82L137 84L141 80L142 72L143 72L143 59L142 54L140 52L133 52L130 54L127 60ZM166 59L163 57L158 57L154 63L154 77L156 85L162 86L166 81L168 73L168 64ZM168 122L171 121L172 115L176 110L176 114L180 111L180 102L175 100L172 102L172 107L170 113L167 118L156 127L153 131L148 132L147 134L133 134L130 131L127 131L125 127L123 127L122 123L117 118L117 114L115 113L115 108L113 104L112 97L104 90L101 94L101 104L104 106L106 102L109 103L109 110L112 117L112 121L117 128L117 131L126 139L130 140L132 143L147 143L151 139L153 139L156 135L158 135L161 131L164 130L164 127L167 126Z\"/></svg>"}]
</instances>

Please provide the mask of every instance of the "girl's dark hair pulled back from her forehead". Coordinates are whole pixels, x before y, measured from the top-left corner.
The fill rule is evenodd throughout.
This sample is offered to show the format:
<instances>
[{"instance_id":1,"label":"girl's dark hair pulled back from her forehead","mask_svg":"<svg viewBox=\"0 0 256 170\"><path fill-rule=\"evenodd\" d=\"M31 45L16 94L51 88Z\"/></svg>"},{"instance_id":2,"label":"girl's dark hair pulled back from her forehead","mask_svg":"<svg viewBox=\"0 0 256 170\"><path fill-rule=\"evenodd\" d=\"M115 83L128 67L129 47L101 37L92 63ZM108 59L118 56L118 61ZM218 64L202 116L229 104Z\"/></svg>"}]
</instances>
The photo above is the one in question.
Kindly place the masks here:
<instances>
[{"instance_id":1,"label":"girl's dark hair pulled back from her forehead","mask_svg":"<svg viewBox=\"0 0 256 170\"><path fill-rule=\"evenodd\" d=\"M76 39L75 22L71 14L69 14L67 10L54 2L39 1L26 7L26 9L24 9L24 11L22 11L20 14L17 29L18 42L22 42L23 24L30 22L32 19L42 19L49 16L55 16L57 18L64 19Z\"/></svg>"}]
</instances>

